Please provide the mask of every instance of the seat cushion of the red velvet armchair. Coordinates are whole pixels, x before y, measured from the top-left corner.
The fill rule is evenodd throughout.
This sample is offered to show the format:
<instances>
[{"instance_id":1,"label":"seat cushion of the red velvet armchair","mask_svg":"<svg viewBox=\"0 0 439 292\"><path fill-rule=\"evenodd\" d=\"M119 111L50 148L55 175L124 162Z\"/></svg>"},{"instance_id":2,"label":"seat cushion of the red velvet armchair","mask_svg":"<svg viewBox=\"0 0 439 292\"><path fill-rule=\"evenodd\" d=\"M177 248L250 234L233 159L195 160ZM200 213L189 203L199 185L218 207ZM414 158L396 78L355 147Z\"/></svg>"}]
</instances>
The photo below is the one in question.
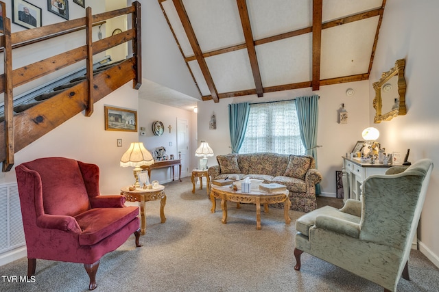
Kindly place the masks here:
<instances>
[{"instance_id":1,"label":"seat cushion of the red velvet armchair","mask_svg":"<svg viewBox=\"0 0 439 292\"><path fill-rule=\"evenodd\" d=\"M139 215L139 207L95 208L75 216L81 227L80 245L93 245L116 233Z\"/></svg>"}]
</instances>

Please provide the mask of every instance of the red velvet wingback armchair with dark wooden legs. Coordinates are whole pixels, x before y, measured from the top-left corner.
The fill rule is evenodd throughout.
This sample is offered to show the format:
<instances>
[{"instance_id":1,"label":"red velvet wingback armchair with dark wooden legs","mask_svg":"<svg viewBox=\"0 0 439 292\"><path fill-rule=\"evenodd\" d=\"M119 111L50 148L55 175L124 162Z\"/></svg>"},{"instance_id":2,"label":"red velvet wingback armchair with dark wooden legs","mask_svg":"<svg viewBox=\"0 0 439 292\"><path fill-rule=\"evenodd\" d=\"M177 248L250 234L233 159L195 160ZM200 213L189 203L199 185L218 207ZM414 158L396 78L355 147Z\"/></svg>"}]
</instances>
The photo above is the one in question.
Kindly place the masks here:
<instances>
[{"instance_id":1,"label":"red velvet wingback armchair with dark wooden legs","mask_svg":"<svg viewBox=\"0 0 439 292\"><path fill-rule=\"evenodd\" d=\"M96 285L104 254L119 248L132 233L139 243L139 207L123 196L101 196L99 168L62 157L22 163L15 168L27 245L27 276L36 258L84 263Z\"/></svg>"}]
</instances>

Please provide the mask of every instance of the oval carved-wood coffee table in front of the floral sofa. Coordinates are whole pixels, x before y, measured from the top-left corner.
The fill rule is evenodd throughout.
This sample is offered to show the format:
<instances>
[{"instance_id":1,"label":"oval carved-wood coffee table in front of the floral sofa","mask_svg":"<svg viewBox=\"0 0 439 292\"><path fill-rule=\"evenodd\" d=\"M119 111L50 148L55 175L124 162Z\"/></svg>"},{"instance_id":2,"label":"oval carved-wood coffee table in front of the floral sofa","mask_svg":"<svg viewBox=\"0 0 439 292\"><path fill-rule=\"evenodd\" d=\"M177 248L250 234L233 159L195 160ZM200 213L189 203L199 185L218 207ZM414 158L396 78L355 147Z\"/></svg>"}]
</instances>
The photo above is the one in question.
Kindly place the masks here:
<instances>
[{"instance_id":1,"label":"oval carved-wood coffee table in front of the floral sofa","mask_svg":"<svg viewBox=\"0 0 439 292\"><path fill-rule=\"evenodd\" d=\"M256 229L261 230L261 204L264 205L264 212L268 213L268 204L276 204L276 203L284 203L284 211L283 217L285 218L285 224L289 224L291 222L291 218L289 218L288 212L289 207L291 207L291 202L288 198L289 191L278 191L274 193L268 193L267 191L262 191L260 189L250 189L249 193L243 193L241 189L237 189L234 191L227 186L217 186L212 185L211 190L211 201L212 201L212 209L211 212L215 213L216 209L216 200L221 199L221 207L222 207L222 220L223 224L227 224L227 202L237 202L238 208L239 204L256 204Z\"/></svg>"}]
</instances>

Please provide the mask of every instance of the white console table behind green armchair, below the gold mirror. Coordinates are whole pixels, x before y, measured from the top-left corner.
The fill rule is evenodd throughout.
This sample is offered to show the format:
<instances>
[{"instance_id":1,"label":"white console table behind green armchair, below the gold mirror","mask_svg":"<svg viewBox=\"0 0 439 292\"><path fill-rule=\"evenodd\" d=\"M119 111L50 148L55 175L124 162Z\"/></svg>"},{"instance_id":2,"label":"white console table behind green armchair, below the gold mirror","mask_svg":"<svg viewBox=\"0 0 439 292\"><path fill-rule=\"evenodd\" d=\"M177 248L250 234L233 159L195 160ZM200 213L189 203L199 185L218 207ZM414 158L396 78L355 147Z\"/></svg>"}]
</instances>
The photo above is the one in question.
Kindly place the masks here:
<instances>
[{"instance_id":1,"label":"white console table behind green armchair, below the gold mirror","mask_svg":"<svg viewBox=\"0 0 439 292\"><path fill-rule=\"evenodd\" d=\"M367 162L361 162L359 159L344 157L342 168L342 180L343 180L343 201L348 199L360 200L361 196L361 183L373 174L385 174L385 171L392 166L402 166L401 164L383 165L382 163L370 164ZM415 234L412 249L418 249L418 239Z\"/></svg>"}]
</instances>

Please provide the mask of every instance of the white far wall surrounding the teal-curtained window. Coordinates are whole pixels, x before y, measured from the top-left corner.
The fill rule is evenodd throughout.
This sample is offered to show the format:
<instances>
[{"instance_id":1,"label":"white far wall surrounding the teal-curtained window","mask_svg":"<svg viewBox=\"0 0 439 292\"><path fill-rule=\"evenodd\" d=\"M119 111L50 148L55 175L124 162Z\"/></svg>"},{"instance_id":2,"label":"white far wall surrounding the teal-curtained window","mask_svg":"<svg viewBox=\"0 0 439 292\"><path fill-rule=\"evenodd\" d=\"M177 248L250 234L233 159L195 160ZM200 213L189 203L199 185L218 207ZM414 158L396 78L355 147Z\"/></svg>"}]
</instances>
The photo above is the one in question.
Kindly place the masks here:
<instances>
[{"instance_id":1,"label":"white far wall surrounding the teal-curtained window","mask_svg":"<svg viewBox=\"0 0 439 292\"><path fill-rule=\"evenodd\" d=\"M342 170L342 156L350 152L358 140L363 140L361 131L369 127L368 81L342 83L337 85L322 86L320 90L312 92L311 88L301 90L287 90L264 94L263 98L257 96L240 96L237 98L220 99L219 103L204 101L198 103L198 140L205 140L213 148L216 155L231 152L230 134L228 129L228 104L261 103L265 101L280 101L318 94L319 121L317 144L318 170L322 173L320 183L322 196L335 197L335 171ZM353 88L354 96L346 96L346 90ZM342 103L348 111L348 124L338 123L338 110ZM209 120L212 114L217 118L217 129L209 129ZM216 165L215 157L209 157L209 165Z\"/></svg>"}]
</instances>

